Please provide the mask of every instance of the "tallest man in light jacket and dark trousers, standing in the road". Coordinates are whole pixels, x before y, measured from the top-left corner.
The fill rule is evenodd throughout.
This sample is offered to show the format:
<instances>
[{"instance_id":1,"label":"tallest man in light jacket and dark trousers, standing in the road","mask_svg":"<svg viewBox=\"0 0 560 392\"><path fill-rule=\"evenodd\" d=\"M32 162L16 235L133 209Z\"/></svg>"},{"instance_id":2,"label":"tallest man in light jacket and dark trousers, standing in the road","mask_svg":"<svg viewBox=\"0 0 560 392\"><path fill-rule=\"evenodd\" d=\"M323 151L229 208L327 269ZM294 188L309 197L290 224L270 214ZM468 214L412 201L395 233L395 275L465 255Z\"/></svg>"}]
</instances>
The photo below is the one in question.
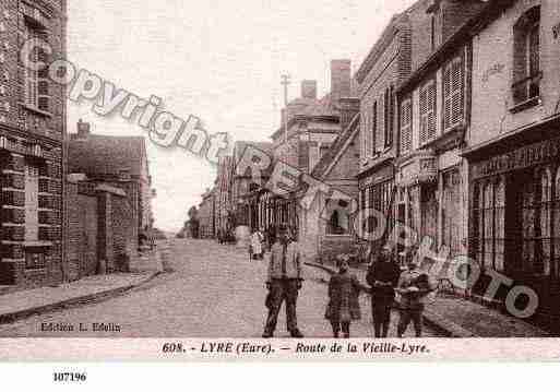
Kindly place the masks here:
<instances>
[{"instance_id":1,"label":"tallest man in light jacket and dark trousers, standing in the road","mask_svg":"<svg viewBox=\"0 0 560 392\"><path fill-rule=\"evenodd\" d=\"M296 241L289 239L287 228L281 227L278 240L272 246L266 288L269 317L262 337L272 337L276 329L282 302L286 301L287 329L291 337L303 337L297 326L296 304L301 289L301 257Z\"/></svg>"}]
</instances>

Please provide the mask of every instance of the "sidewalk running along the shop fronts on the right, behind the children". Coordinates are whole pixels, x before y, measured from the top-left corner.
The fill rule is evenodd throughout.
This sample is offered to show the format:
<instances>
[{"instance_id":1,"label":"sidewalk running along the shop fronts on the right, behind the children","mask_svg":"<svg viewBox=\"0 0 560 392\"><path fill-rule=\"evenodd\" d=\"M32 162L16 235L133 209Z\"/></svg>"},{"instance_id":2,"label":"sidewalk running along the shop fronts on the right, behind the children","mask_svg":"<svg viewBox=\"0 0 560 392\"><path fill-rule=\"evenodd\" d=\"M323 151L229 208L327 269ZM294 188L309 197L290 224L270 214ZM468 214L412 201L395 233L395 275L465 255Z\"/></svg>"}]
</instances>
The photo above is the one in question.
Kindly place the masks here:
<instances>
[{"instance_id":1,"label":"sidewalk running along the shop fronts on the right, behind the children","mask_svg":"<svg viewBox=\"0 0 560 392\"><path fill-rule=\"evenodd\" d=\"M334 271L333 265L306 263L315 269ZM366 282L364 268L352 268L360 282ZM450 337L545 337L550 334L521 319L464 299L439 294L426 305L425 322Z\"/></svg>"}]
</instances>

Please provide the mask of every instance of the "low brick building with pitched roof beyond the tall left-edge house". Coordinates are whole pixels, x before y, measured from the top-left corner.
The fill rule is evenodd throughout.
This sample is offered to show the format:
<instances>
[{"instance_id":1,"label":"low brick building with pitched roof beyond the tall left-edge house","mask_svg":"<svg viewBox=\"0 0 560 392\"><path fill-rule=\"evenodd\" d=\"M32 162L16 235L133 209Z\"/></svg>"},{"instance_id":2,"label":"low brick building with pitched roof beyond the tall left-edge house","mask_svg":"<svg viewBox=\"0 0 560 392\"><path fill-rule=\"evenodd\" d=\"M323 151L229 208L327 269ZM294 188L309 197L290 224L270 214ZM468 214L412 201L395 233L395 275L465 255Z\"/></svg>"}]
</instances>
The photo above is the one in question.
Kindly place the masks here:
<instances>
[{"instance_id":1,"label":"low brick building with pitched roof beyond the tall left-edge house","mask_svg":"<svg viewBox=\"0 0 560 392\"><path fill-rule=\"evenodd\" d=\"M144 138L94 134L90 123L80 121L78 133L70 134L68 171L82 175L84 182L69 198L97 195L98 260L110 266L124 254L133 257L139 234L154 223Z\"/></svg>"}]
</instances>

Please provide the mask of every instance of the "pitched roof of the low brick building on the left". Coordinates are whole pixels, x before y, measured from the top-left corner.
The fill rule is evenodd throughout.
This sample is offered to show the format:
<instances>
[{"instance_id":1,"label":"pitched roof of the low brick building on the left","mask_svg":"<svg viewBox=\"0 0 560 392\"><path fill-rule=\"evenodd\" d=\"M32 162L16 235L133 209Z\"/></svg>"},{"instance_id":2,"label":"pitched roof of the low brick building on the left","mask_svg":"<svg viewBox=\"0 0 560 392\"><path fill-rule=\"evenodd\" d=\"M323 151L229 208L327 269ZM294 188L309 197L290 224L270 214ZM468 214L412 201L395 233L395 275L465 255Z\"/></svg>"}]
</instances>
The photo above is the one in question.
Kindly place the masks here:
<instances>
[{"instance_id":1,"label":"pitched roof of the low brick building on the left","mask_svg":"<svg viewBox=\"0 0 560 392\"><path fill-rule=\"evenodd\" d=\"M140 176L145 157L146 146L142 136L90 134L86 139L78 139L76 134L70 134L69 173L118 175L128 169L131 176Z\"/></svg>"}]
</instances>

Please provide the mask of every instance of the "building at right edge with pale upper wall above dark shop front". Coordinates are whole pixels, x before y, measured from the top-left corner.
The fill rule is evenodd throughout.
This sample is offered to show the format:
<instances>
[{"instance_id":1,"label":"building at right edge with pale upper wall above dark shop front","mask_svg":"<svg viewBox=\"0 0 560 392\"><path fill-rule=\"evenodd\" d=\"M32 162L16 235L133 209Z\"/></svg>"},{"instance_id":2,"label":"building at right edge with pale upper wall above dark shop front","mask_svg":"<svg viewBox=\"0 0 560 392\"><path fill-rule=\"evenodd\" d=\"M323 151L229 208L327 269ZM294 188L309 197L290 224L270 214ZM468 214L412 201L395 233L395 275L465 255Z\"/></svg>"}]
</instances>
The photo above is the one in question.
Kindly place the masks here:
<instances>
[{"instance_id":1,"label":"building at right edge with pale upper wall above dark shop front","mask_svg":"<svg viewBox=\"0 0 560 392\"><path fill-rule=\"evenodd\" d=\"M551 324L560 317L559 22L558 1L511 0L489 2L470 24L476 66L463 151L472 258L534 289Z\"/></svg>"}]
</instances>

